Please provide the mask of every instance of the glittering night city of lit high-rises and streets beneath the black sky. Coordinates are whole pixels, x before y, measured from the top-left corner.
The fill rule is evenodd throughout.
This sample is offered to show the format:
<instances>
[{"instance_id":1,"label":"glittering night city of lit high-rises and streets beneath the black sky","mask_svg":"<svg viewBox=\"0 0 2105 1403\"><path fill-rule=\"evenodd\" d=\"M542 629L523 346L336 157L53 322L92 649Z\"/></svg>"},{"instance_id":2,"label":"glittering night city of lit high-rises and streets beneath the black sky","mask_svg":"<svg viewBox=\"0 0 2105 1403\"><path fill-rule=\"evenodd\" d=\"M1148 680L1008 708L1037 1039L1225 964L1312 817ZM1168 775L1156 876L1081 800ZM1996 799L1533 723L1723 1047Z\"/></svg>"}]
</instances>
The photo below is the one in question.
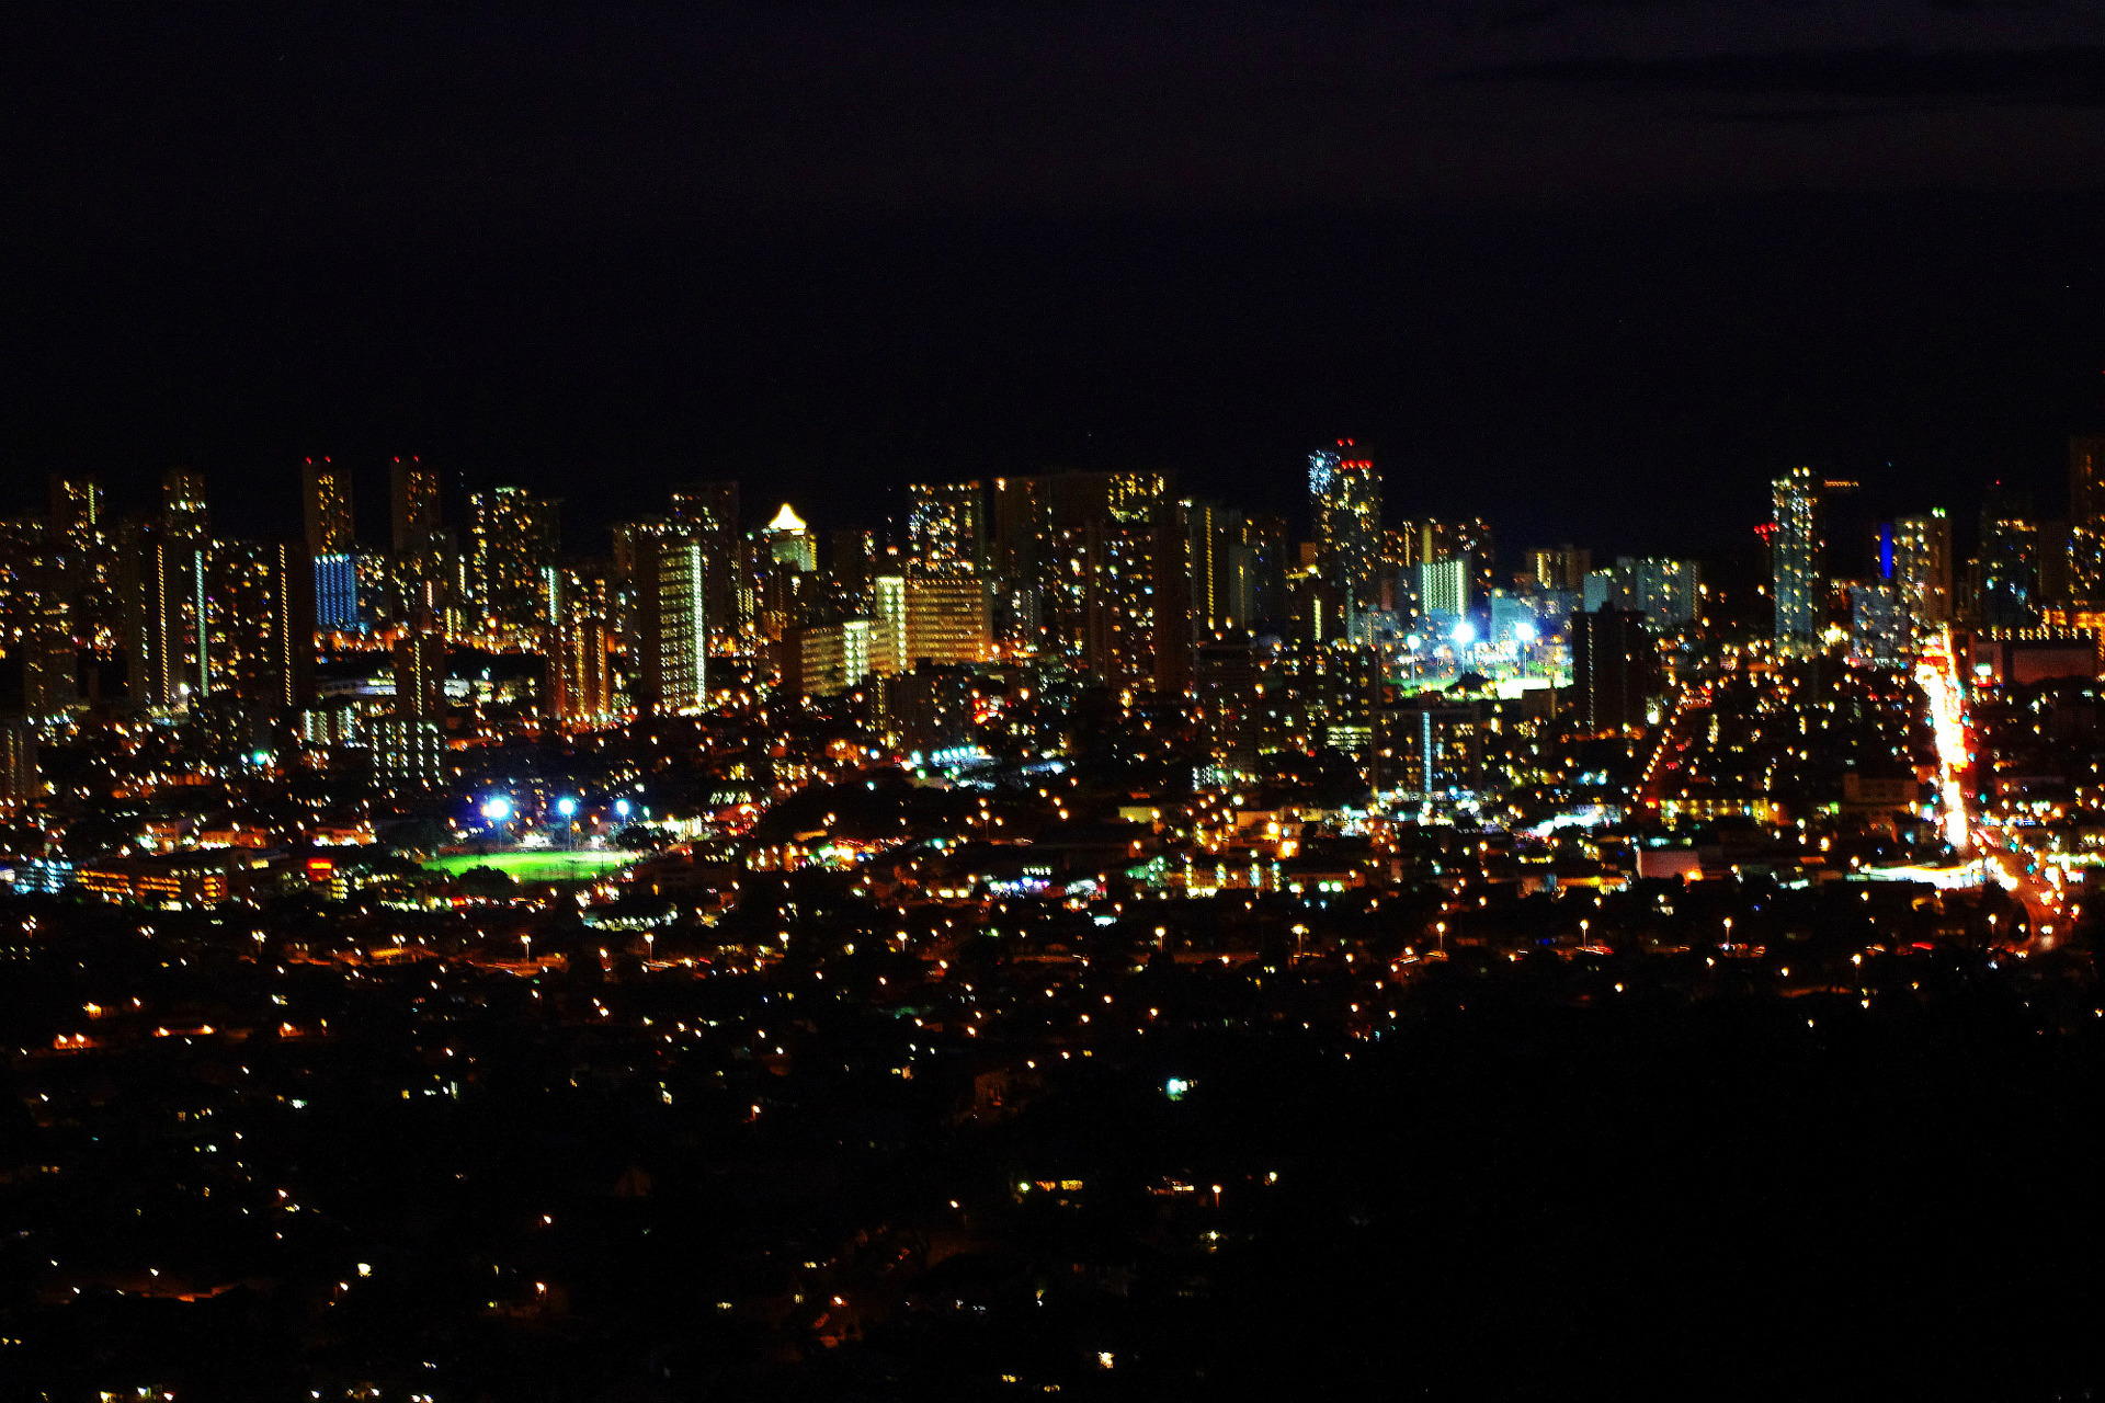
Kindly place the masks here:
<instances>
[{"instance_id":1,"label":"glittering night city of lit high-rises and streets beneath the black sky","mask_svg":"<svg viewBox=\"0 0 2105 1403\"><path fill-rule=\"evenodd\" d=\"M1164 1104L1202 1096L1288 1010L1280 1056L1370 1054L1518 965L1581 1003L1756 987L1812 1029L1897 1016L1951 961L2029 970L2033 997L2069 978L2054 955L2086 949L2105 873L2078 536L2048 568L1989 486L1985 555L1956 568L1934 507L1873 524L1865 576L1836 578L1836 484L1791 469L1781 515L1749 522L1766 578L1749 555L1591 568L1572 545L1507 568L1484 522L1387 524L1379 459L1309 463L1301 568L1278 517L1158 471L996 480L991 509L981 482L922 484L901 520L825 532L794 503L743 524L766 503L749 484L674 488L600 557L507 486L469 494L457 547L419 461L309 461L309 530L272 541L213 534L196 471L116 517L55 482L53 513L4 532L6 576L42 583L8 604L11 959L46 978L93 938L116 963L23 1005L42 1033L15 1077L48 1172L103 1182L107 1151L63 1130L128 1115L93 1087L160 1048L221 1071L179 1098L198 1163L141 1201L156 1235L46 1228L25 1300L312 1273L381 1218L293 1157L299 1127L381 1125L375 1096L404 1102L383 1136L495 1115L518 1037L568 1066L535 1096L653 1123L610 1144L751 1140L810 1096L1000 1136L1069 1077L1168 1066ZM364 551L360 471L392 475L375 557L413 587L322 618ZM118 644L84 604L112 555ZM1859 907L1838 923L1836 902ZM1269 1212L1280 1165L1307 1170L1261 1144L1198 1178L1179 1159L1139 1201L1204 1256ZM482 1153L370 1172L484 1182ZM810 1262L711 1277L711 1327L821 1353L916 1338L996 1289L937 1285L939 1256L1126 1193L1095 1151L1017 1153L996 1182L941 1172L935 1218L907 1195ZM589 1235L533 1214L604 1218L577 1195L655 1203L655 1176L690 1172L619 1155L587 1155L604 1184L495 1186L528 1226L490 1239L482 1319L530 1334L606 1292ZM181 1235L206 1224L223 1245L196 1256ZM379 1258L358 1273L406 1270L358 1252ZM1137 1270L1120 1260L1076 1270ZM349 1270L330 1300L373 1289ZM1116 1331L1061 1329L1118 1355ZM373 1376L413 1386L404 1361L438 1350L402 1348Z\"/></svg>"}]
</instances>

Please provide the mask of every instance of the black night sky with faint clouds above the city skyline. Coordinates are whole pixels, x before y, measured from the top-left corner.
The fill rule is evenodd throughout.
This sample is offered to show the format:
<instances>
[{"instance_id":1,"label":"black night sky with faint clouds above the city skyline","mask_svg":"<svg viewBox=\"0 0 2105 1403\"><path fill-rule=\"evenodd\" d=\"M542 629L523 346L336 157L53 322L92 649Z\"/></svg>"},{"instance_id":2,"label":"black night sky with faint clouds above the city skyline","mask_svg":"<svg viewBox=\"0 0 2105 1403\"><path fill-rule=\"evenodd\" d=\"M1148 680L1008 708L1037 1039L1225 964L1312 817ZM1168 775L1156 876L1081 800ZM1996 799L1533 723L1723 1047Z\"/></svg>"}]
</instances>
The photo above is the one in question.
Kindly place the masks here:
<instances>
[{"instance_id":1,"label":"black night sky with faint clouds above the city skyline","mask_svg":"<svg viewBox=\"0 0 2105 1403\"><path fill-rule=\"evenodd\" d=\"M2059 511L2105 427L2099 4L202 8L0 21L11 509L421 452L598 549L716 473L1286 507L1349 433L1707 549L1796 461Z\"/></svg>"}]
</instances>

